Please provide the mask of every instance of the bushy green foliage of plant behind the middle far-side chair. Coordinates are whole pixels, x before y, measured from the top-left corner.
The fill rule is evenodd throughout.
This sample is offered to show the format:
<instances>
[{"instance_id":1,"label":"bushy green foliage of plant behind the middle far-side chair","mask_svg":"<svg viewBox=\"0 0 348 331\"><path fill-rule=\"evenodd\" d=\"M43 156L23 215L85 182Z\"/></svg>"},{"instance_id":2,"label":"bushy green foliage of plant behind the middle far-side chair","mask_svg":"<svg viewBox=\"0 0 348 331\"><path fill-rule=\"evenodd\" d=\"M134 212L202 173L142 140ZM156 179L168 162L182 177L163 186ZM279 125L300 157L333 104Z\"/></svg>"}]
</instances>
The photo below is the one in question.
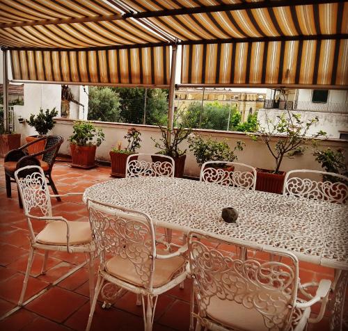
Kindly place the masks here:
<instances>
[{"instance_id":1,"label":"bushy green foliage of plant behind the middle far-side chair","mask_svg":"<svg viewBox=\"0 0 348 331\"><path fill-rule=\"evenodd\" d=\"M235 145L235 148L231 150L226 140L212 140L211 136L204 140L198 134L190 137L189 143L189 149L193 152L193 155L196 156L197 163L200 167L203 165L203 163L207 161L233 162L237 160L237 155L235 155L235 151L242 151L245 145L243 141L238 140ZM219 165L219 163L216 163L212 166L217 168L223 168L223 165ZM233 171L233 167L230 167L230 170Z\"/></svg>"}]
</instances>

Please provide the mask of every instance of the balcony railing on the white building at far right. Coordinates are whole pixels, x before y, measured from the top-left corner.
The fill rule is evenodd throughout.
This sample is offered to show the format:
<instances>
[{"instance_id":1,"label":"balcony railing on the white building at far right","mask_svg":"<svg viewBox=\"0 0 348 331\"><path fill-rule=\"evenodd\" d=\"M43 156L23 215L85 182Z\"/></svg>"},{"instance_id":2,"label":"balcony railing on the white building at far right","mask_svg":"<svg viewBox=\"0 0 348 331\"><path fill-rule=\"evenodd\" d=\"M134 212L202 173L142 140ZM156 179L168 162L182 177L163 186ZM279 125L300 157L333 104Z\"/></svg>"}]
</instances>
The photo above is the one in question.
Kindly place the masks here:
<instances>
[{"instance_id":1,"label":"balcony railing on the white building at far right","mask_svg":"<svg viewBox=\"0 0 348 331\"><path fill-rule=\"evenodd\" d=\"M310 102L310 101L284 101L284 100L264 100L265 109L280 109L289 111L315 111L319 113L348 113L347 102Z\"/></svg>"}]
</instances>

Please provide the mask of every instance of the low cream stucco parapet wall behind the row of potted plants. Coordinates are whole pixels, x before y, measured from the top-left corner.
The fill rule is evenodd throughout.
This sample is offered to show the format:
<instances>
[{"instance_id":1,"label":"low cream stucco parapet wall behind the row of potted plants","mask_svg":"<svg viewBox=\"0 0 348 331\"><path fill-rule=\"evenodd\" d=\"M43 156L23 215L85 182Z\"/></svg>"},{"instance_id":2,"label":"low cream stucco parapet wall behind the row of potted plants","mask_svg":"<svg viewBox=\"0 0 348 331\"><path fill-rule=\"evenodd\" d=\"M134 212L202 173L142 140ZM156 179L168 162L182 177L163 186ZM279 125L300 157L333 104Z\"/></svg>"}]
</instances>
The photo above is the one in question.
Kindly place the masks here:
<instances>
[{"instance_id":1,"label":"low cream stucco parapet wall behind the row of potted plants","mask_svg":"<svg viewBox=\"0 0 348 331\"><path fill-rule=\"evenodd\" d=\"M57 124L53 129L55 134L61 134L65 137L65 141L60 150L62 154L70 154L70 147L67 140L70 134L72 134L72 123L72 120L58 119ZM111 150L111 147L115 146L118 141L125 143L123 136L125 136L129 127L136 127L141 131L141 138L143 141L139 152L157 152L154 143L151 140L151 137L157 139L160 137L160 132L157 127L106 122L95 122L95 125L103 129L106 138L102 145L97 148L97 159L109 161L109 151ZM267 147L261 142L251 140L251 138L246 134L212 130L194 130L194 132L198 132L203 136L212 136L217 140L227 139L231 146L234 146L237 140L243 140L246 143L244 151L236 153L239 162L247 163L258 168L274 168L274 159L271 158L271 154L269 154ZM341 147L348 152L348 141L345 140L318 140L318 143L319 147L322 148L331 147L337 149ZM185 148L188 148L188 143L183 143L180 147L184 150ZM280 170L284 171L292 169L320 170L320 165L315 162L314 156L311 154L311 149L308 149L303 155L296 156L294 159L286 158L280 168ZM187 176L198 177L199 171L200 169L196 163L196 158L191 152L188 152L184 174Z\"/></svg>"}]
</instances>

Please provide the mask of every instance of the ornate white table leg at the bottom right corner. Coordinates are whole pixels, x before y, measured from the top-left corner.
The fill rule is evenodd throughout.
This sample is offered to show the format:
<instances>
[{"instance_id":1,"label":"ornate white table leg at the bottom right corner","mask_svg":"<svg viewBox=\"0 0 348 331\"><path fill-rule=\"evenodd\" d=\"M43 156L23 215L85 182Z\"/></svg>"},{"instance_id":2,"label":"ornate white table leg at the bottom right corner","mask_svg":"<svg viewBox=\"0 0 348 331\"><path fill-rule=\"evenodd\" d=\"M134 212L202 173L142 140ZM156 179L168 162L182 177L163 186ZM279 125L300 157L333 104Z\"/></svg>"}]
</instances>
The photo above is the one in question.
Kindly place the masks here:
<instances>
[{"instance_id":1,"label":"ornate white table leg at the bottom right corner","mask_svg":"<svg viewBox=\"0 0 348 331\"><path fill-rule=\"evenodd\" d=\"M330 330L342 331L343 312L345 309L345 295L347 291L348 271L335 269L333 282L333 297L330 316Z\"/></svg>"}]
</instances>

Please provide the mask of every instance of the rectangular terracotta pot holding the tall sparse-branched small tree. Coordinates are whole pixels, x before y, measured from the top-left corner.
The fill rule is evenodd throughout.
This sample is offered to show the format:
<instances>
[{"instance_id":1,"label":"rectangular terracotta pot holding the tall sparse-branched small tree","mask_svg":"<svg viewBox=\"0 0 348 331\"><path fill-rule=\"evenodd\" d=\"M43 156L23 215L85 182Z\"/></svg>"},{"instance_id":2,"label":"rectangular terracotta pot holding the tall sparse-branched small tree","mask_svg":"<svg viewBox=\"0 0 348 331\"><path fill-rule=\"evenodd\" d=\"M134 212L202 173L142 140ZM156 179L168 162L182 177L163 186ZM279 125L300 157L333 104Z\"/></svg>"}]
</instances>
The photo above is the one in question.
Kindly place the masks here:
<instances>
[{"instance_id":1,"label":"rectangular terracotta pot holding the tall sparse-branched small tree","mask_svg":"<svg viewBox=\"0 0 348 331\"><path fill-rule=\"evenodd\" d=\"M283 193L283 185L285 179L285 172L280 171L274 174L271 170L257 169L256 173L256 190L269 193Z\"/></svg>"}]
</instances>

